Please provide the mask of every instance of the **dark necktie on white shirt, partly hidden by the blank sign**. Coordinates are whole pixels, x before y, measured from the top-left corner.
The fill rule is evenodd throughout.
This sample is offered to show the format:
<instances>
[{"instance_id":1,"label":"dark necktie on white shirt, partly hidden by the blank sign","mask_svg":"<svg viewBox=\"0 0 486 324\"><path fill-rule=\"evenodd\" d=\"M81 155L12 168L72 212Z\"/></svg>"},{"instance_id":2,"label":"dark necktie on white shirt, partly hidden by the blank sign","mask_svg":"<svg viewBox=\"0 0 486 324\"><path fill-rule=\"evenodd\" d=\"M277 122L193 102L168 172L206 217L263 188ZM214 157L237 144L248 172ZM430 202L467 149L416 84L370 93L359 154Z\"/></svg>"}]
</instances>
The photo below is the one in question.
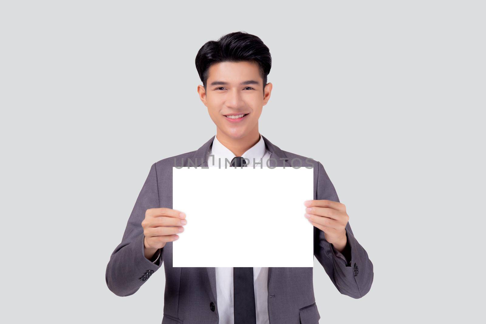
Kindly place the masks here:
<instances>
[{"instance_id":1,"label":"dark necktie on white shirt, partly hidden by the blank sign","mask_svg":"<svg viewBox=\"0 0 486 324\"><path fill-rule=\"evenodd\" d=\"M242 156L231 160L232 167L246 167ZM235 324L256 324L255 289L253 287L253 267L233 268L233 310Z\"/></svg>"}]
</instances>

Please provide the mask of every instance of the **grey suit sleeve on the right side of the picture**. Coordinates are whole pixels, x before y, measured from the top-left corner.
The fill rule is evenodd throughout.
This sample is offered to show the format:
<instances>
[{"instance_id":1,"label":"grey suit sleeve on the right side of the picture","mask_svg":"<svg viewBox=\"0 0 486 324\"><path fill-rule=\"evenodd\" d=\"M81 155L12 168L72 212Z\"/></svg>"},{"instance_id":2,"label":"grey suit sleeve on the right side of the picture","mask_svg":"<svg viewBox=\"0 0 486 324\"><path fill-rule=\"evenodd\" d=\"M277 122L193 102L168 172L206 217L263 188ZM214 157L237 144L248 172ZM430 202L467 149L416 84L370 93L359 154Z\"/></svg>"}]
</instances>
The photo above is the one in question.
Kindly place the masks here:
<instances>
[{"instance_id":1,"label":"grey suit sleeve on the right side of the picture","mask_svg":"<svg viewBox=\"0 0 486 324\"><path fill-rule=\"evenodd\" d=\"M316 196L318 200L339 202L336 190L321 162L318 162ZM373 283L373 263L354 237L349 222L346 225L346 236L350 260L337 252L325 239L324 232L314 226L314 256L340 293L361 298L370 290Z\"/></svg>"}]
</instances>

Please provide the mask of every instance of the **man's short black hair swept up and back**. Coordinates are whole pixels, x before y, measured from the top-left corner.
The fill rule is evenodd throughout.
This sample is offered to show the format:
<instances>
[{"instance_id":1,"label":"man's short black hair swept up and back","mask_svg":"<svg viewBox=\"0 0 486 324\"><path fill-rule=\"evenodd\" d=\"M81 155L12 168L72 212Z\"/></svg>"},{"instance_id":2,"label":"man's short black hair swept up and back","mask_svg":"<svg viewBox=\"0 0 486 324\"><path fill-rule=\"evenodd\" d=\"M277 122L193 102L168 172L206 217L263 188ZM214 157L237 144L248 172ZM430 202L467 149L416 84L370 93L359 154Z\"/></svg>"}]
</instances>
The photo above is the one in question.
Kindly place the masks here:
<instances>
[{"instance_id":1,"label":"man's short black hair swept up and back","mask_svg":"<svg viewBox=\"0 0 486 324\"><path fill-rule=\"evenodd\" d=\"M272 68L272 56L260 37L246 32L223 35L217 41L204 44L196 55L196 69L206 90L208 70L211 64L218 62L255 62L260 67L263 89L267 84L267 75Z\"/></svg>"}]
</instances>

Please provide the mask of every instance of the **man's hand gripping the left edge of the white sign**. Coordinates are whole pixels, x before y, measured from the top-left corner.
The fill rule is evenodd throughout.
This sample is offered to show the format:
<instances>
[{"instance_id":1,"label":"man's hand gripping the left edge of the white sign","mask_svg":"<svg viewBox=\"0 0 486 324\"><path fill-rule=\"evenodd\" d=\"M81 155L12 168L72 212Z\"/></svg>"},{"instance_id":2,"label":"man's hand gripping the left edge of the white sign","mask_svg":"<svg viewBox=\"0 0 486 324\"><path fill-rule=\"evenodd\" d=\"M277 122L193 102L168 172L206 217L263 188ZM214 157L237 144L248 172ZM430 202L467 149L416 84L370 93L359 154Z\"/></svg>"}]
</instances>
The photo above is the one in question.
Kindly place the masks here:
<instances>
[{"instance_id":1,"label":"man's hand gripping the left edge of the white sign","mask_svg":"<svg viewBox=\"0 0 486 324\"><path fill-rule=\"evenodd\" d=\"M187 224L185 218L186 214L170 208L147 209L145 219L142 221L145 257L150 259L167 242L178 239L176 233L184 231L182 225Z\"/></svg>"}]
</instances>

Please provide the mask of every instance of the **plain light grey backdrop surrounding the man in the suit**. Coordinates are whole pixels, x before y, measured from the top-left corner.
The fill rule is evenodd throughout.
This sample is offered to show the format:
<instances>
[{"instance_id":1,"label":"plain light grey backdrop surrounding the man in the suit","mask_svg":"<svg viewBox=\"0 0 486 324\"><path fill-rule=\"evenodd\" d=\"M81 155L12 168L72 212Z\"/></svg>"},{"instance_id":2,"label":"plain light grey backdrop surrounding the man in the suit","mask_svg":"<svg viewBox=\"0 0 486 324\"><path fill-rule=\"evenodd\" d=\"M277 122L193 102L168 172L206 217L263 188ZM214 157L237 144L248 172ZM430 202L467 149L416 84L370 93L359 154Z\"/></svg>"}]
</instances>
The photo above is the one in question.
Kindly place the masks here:
<instances>
[{"instance_id":1,"label":"plain light grey backdrop surrounding the man in the suit","mask_svg":"<svg viewBox=\"0 0 486 324\"><path fill-rule=\"evenodd\" d=\"M215 134L196 52L246 31L260 133L322 162L375 267L354 300L315 260L321 322L484 318L483 3L1 2L2 316L161 322L163 270L121 298L105 267L151 164Z\"/></svg>"}]
</instances>

